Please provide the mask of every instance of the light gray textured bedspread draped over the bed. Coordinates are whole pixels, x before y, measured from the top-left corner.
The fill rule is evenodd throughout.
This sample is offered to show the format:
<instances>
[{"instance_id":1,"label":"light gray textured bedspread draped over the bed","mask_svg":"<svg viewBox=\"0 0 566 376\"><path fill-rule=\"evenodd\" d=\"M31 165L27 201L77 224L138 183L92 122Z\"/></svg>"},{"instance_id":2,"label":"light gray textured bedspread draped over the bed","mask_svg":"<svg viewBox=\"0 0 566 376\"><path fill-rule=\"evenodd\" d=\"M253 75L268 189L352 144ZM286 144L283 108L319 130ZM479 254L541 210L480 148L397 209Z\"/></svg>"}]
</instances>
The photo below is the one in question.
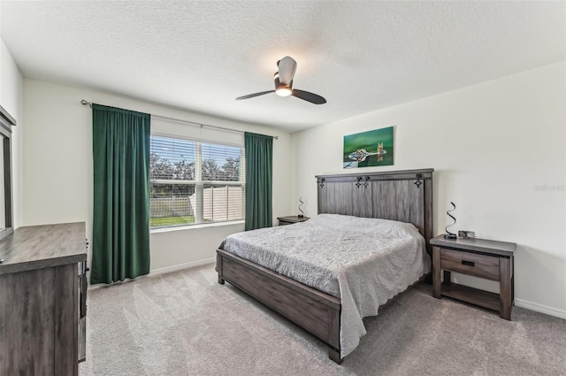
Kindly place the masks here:
<instances>
[{"instance_id":1,"label":"light gray textured bedspread draped over the bed","mask_svg":"<svg viewBox=\"0 0 566 376\"><path fill-rule=\"evenodd\" d=\"M424 238L409 223L320 214L232 234L220 249L340 297L340 357L366 334L362 318L429 272Z\"/></svg>"}]
</instances>

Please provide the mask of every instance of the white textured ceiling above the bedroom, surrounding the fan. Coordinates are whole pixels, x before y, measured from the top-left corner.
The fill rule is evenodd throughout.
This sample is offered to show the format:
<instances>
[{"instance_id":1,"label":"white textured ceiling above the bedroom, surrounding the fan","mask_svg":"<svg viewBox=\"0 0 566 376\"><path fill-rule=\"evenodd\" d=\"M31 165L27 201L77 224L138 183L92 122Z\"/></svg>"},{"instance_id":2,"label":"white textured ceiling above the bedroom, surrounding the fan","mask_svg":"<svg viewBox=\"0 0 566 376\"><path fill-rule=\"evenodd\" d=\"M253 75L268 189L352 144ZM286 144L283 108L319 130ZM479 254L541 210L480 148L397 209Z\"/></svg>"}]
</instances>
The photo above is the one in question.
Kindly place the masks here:
<instances>
[{"instance_id":1,"label":"white textured ceiling above the bedroom, surrounding the fan","mask_svg":"<svg viewBox=\"0 0 566 376\"><path fill-rule=\"evenodd\" d=\"M1 35L27 77L289 131L565 58L560 2L9 2ZM258 96L276 62L294 87ZM77 98L79 100L80 98Z\"/></svg>"}]
</instances>

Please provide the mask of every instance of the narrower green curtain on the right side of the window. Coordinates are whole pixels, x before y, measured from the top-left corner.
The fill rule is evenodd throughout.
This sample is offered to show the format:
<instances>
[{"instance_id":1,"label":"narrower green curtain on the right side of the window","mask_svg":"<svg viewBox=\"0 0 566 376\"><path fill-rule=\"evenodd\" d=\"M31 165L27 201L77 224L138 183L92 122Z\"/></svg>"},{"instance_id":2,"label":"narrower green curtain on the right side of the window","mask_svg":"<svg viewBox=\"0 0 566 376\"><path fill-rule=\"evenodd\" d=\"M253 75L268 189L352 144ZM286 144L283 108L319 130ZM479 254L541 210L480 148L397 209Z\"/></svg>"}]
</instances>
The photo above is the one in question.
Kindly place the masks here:
<instances>
[{"instance_id":1,"label":"narrower green curtain on the right side of the window","mask_svg":"<svg viewBox=\"0 0 566 376\"><path fill-rule=\"evenodd\" d=\"M244 134L246 153L246 231L272 226L273 137Z\"/></svg>"}]
</instances>

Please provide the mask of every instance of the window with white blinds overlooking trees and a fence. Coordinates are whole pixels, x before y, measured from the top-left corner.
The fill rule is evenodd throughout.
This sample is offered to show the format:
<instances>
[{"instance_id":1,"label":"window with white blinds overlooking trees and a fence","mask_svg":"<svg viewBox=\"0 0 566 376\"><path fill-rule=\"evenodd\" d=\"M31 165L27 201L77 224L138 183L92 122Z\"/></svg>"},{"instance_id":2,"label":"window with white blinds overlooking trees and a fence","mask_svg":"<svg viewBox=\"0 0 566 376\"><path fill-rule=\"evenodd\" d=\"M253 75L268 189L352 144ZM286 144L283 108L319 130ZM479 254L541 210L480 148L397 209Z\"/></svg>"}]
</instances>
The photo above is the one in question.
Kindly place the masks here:
<instances>
[{"instance_id":1,"label":"window with white blinds overlooking trees and a fence","mask_svg":"<svg viewBox=\"0 0 566 376\"><path fill-rule=\"evenodd\" d=\"M150 227L244 219L243 148L151 135Z\"/></svg>"}]
</instances>

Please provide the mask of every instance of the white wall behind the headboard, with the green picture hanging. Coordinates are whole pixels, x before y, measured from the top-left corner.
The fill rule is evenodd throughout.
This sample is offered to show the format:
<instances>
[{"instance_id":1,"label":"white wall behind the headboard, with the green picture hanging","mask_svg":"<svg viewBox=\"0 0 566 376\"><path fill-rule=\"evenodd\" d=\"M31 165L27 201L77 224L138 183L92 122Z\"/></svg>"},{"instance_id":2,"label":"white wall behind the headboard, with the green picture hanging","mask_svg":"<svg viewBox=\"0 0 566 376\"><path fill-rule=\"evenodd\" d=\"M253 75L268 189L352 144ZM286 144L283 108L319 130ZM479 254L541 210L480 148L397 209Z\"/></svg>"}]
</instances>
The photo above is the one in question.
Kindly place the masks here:
<instances>
[{"instance_id":1,"label":"white wall behind the headboard, with the green picture hanging","mask_svg":"<svg viewBox=\"0 0 566 376\"><path fill-rule=\"evenodd\" d=\"M294 200L303 196L305 214L315 215L315 175L362 171L341 168L343 136L394 126L394 165L363 170L433 167L435 234L444 232L454 201L455 230L517 243L516 304L566 318L565 66L546 65L294 134L294 154L301 156ZM545 185L551 190L540 190ZM499 288L466 276L456 280Z\"/></svg>"}]
</instances>

